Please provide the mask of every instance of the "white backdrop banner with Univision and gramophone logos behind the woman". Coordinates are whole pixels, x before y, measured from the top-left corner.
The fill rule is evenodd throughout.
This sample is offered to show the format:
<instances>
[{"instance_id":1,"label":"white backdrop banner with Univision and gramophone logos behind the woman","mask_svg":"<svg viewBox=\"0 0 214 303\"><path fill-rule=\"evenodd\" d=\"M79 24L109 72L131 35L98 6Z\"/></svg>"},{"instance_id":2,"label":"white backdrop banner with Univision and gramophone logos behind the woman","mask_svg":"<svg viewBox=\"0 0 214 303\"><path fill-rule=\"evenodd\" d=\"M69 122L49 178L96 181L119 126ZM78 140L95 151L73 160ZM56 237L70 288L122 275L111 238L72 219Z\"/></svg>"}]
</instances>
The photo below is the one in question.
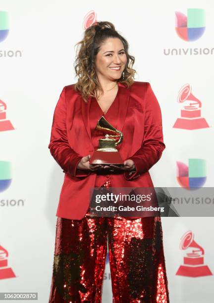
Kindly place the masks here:
<instances>
[{"instance_id":1,"label":"white backdrop banner with Univision and gramophone logos behind the woman","mask_svg":"<svg viewBox=\"0 0 214 303\"><path fill-rule=\"evenodd\" d=\"M76 81L74 45L96 20L127 39L136 81L150 82L160 103L166 149L154 185L213 187L213 11L202 0L0 1L0 292L48 302L64 178L48 150L52 119ZM213 302L213 218L161 220L170 302ZM108 256L103 302L112 302Z\"/></svg>"}]
</instances>

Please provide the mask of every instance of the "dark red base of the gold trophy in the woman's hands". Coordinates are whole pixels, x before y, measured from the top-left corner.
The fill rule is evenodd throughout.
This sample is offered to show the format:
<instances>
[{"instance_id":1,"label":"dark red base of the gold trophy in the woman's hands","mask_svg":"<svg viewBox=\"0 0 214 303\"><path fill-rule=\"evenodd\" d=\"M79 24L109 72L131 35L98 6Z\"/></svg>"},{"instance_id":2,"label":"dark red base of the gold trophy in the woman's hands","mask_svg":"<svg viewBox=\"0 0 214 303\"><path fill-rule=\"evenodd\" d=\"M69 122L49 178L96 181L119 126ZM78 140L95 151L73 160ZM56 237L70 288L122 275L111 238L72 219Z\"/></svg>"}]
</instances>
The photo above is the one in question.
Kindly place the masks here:
<instances>
[{"instance_id":1,"label":"dark red base of the gold trophy in the woman's hands","mask_svg":"<svg viewBox=\"0 0 214 303\"><path fill-rule=\"evenodd\" d=\"M95 151L92 155L90 161L90 164L92 165L98 165L98 164L114 164L114 165L121 165L123 166L123 160L119 154L119 152L101 152L101 151Z\"/></svg>"}]
</instances>

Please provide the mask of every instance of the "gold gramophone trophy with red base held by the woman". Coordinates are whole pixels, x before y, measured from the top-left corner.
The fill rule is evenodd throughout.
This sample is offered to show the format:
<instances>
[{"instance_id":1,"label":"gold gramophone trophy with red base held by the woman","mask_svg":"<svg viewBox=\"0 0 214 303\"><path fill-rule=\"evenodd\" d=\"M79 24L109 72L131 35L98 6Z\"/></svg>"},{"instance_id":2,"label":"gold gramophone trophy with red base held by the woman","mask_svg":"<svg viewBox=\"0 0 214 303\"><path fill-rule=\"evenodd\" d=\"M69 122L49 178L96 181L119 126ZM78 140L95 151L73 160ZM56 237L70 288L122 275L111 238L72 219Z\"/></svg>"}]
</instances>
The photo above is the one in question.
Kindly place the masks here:
<instances>
[{"instance_id":1,"label":"gold gramophone trophy with red base held by the woman","mask_svg":"<svg viewBox=\"0 0 214 303\"><path fill-rule=\"evenodd\" d=\"M108 121L102 116L96 126L96 130L102 130L106 134L104 139L99 139L99 148L94 152L90 159L90 164L114 164L123 166L123 160L117 151L116 147L122 142L123 134L115 127L113 127ZM114 138L118 138L116 141Z\"/></svg>"}]
</instances>

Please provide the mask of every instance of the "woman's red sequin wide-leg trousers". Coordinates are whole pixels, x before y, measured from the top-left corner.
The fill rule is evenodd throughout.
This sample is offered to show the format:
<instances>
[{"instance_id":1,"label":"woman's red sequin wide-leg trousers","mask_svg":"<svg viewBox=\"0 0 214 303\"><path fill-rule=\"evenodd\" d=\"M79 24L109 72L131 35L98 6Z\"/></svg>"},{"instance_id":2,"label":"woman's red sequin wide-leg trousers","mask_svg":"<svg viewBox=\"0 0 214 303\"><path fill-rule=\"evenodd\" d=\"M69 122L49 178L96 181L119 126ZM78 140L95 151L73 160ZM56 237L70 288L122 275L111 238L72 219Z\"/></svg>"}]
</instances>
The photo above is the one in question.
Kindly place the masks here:
<instances>
[{"instance_id":1,"label":"woman's red sequin wide-leg trousers","mask_svg":"<svg viewBox=\"0 0 214 303\"><path fill-rule=\"evenodd\" d=\"M103 187L110 186L109 178ZM102 302L107 238L113 303L168 303L160 217L89 213L57 218L49 303Z\"/></svg>"}]
</instances>

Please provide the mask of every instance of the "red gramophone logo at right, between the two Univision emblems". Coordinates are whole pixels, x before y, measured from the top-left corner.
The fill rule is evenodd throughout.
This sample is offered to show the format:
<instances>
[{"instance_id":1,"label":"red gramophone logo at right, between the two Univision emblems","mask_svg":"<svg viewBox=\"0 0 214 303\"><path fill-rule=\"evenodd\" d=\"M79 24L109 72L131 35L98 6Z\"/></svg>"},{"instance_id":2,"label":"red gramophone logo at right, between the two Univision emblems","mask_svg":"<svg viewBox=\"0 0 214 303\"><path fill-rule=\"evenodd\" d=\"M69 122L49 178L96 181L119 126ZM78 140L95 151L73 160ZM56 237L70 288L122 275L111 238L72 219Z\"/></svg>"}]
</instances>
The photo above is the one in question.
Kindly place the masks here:
<instances>
[{"instance_id":1,"label":"red gramophone logo at right, between the two Univision emblems","mask_svg":"<svg viewBox=\"0 0 214 303\"><path fill-rule=\"evenodd\" d=\"M181 118L175 121L174 128L193 130L209 127L205 118L201 117L202 102L193 96L191 91L191 86L185 84L178 93L177 101L179 103L187 102L181 109Z\"/></svg>"}]
</instances>

